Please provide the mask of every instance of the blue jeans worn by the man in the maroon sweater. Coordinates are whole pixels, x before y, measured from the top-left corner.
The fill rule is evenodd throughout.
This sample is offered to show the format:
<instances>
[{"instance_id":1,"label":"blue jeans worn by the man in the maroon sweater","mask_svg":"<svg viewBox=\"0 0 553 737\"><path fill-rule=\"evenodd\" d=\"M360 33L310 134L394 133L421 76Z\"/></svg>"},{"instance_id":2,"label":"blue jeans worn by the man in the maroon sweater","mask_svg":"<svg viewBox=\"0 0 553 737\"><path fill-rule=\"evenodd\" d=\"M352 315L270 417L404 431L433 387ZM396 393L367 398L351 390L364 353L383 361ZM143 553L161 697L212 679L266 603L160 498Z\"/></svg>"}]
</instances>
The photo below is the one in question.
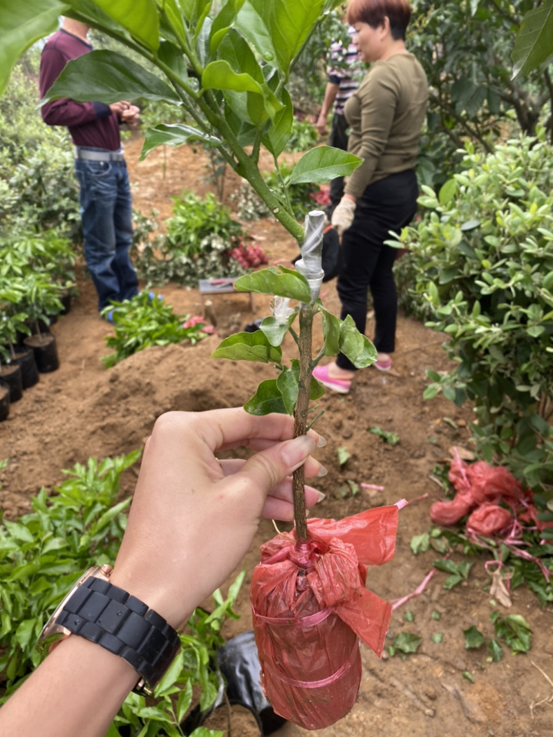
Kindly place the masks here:
<instances>
[{"instance_id":1,"label":"blue jeans worn by the man in the maroon sweater","mask_svg":"<svg viewBox=\"0 0 553 737\"><path fill-rule=\"evenodd\" d=\"M101 151L90 148L88 150ZM125 161L75 159L85 259L98 293L98 310L138 294L129 251L133 209Z\"/></svg>"}]
</instances>

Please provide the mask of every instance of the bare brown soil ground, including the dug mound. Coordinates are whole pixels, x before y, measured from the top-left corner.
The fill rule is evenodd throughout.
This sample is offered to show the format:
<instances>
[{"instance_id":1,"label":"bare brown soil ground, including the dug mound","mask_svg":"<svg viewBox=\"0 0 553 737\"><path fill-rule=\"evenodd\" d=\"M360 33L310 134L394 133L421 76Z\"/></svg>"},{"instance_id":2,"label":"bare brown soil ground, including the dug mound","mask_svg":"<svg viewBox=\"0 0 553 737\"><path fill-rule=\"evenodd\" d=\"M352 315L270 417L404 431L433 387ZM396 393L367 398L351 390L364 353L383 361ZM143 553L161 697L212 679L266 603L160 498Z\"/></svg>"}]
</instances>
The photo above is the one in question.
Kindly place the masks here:
<instances>
[{"instance_id":1,"label":"bare brown soil ground, including the dug mound","mask_svg":"<svg viewBox=\"0 0 553 737\"><path fill-rule=\"evenodd\" d=\"M133 140L126 148L134 206L145 214L157 209L164 220L170 216L170 197L184 187L206 191L206 162L200 153L187 147L158 150L139 162L140 141ZM225 200L231 205L229 195L237 185L237 178L229 175ZM275 221L245 225L271 261L296 255L296 244ZM41 374L38 385L25 391L0 425L0 458L9 458L0 475L0 503L9 519L29 510L29 497L41 486L51 489L60 483L60 469L83 463L90 455L103 458L142 447L161 413L242 405L260 380L273 376L270 366L209 358L221 337L268 314L263 296L254 296L253 312L247 295L218 296L213 301L218 335L194 347L147 349L105 370L100 357L107 353L104 340L111 326L98 316L90 280L80 278L79 287L71 312L52 327L60 368ZM175 312L201 314L198 290L166 284L161 291ZM324 304L338 312L335 283L325 284L323 293ZM369 321L369 337L372 329ZM392 562L369 572L369 587L389 600L414 592L438 557L433 552L414 556L409 548L411 537L428 529L428 508L442 495L429 475L440 459L448 457L452 445L470 449L470 408L459 410L444 399L422 399L426 369L447 367L441 336L401 315L397 338L394 368L398 375L374 368L359 371L350 394L329 393L321 400L325 413L318 425L328 441L318 457L329 471L319 484L327 495L319 504L319 516L341 518L402 497L413 500L428 495L400 512ZM321 343L320 328L314 343ZM400 444L385 444L369 431L371 427L393 430ZM338 447L346 447L351 454L342 467ZM125 473L122 494L132 493L136 474L136 469ZM384 489L360 489L354 496L348 481ZM262 523L246 559L246 584L237 605L242 617L227 626L227 637L251 629L251 571L259 558L259 545L273 535L271 523ZM423 593L392 615L389 643L400 632L413 632L422 637L417 654L406 660L396 655L380 661L361 646L364 674L358 702L341 722L320 730L321 737L546 737L553 733L551 610L541 609L535 595L525 589L515 590L509 610L492 604L483 559L476 561L465 584L448 591L444 581L445 573L436 573ZM462 631L471 625L493 636L490 612L494 609L502 615L507 611L524 615L529 621L533 629L529 654L512 656L506 649L500 663L487 663L484 648L465 649ZM413 613L413 621L406 621L407 611ZM439 620L432 612L438 612ZM436 643L431 635L439 632L442 641ZM226 714L224 709L219 711ZM233 708L233 714L233 737L257 734L247 712ZM226 716L217 716L220 728L226 730ZM285 724L275 734L299 737L306 732Z\"/></svg>"}]
</instances>

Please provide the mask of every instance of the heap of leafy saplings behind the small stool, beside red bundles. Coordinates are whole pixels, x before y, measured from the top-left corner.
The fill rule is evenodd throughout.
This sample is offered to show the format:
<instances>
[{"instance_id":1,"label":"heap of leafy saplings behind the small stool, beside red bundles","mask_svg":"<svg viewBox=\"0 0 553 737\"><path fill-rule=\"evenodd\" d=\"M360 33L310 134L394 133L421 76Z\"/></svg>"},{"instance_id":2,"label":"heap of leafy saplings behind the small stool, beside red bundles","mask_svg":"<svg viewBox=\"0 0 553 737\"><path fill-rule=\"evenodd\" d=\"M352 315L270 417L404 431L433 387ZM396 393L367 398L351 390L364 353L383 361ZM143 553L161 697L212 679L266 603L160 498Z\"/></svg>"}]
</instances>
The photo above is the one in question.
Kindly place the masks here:
<instances>
[{"instance_id":1,"label":"heap of leafy saplings behind the small stool, beside red bundles","mask_svg":"<svg viewBox=\"0 0 553 737\"><path fill-rule=\"evenodd\" d=\"M229 254L242 227L232 220L228 208L209 193L202 199L183 192L173 203L173 217L167 220L167 236L159 249L148 243L136 259L139 276L150 284L176 282L197 287L198 279L245 273Z\"/></svg>"}]
</instances>

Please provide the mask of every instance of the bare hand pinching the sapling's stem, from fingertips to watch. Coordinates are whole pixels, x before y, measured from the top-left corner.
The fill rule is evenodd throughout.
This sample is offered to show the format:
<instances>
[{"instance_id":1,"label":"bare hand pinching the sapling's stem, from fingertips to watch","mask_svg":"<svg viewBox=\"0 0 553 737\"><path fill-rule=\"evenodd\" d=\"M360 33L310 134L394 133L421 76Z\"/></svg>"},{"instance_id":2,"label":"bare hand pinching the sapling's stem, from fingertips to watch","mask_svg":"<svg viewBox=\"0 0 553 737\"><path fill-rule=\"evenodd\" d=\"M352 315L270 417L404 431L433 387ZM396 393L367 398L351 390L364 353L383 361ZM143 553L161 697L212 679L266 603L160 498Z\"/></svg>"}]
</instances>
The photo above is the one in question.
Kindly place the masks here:
<instances>
[{"instance_id":1,"label":"bare hand pinching the sapling's stem, from fingertips to watch","mask_svg":"<svg viewBox=\"0 0 553 737\"><path fill-rule=\"evenodd\" d=\"M260 517L293 519L291 479L324 441L310 430L293 437L287 415L252 416L243 409L161 416L147 440L128 525L112 583L145 601L178 628L236 569ZM246 445L247 461L215 453ZM324 472L324 470L323 470ZM319 493L305 488L307 506Z\"/></svg>"}]
</instances>

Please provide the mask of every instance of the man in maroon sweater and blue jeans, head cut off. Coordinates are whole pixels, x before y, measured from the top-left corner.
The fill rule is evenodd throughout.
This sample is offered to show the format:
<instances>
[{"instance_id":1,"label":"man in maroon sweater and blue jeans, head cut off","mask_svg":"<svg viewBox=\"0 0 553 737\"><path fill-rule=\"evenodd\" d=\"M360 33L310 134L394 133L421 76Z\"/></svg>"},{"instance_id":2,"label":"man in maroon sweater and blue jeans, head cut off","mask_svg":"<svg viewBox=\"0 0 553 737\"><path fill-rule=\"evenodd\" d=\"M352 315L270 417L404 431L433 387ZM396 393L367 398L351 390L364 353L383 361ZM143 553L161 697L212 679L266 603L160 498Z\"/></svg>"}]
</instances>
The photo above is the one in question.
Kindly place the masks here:
<instances>
[{"instance_id":1,"label":"man in maroon sweater and blue jeans, head cut off","mask_svg":"<svg viewBox=\"0 0 553 737\"><path fill-rule=\"evenodd\" d=\"M41 97L66 63L88 54L89 27L64 18L62 27L44 46L41 56ZM98 309L138 293L138 279L129 251L133 242L131 187L123 157L119 125L138 125L139 108L122 100L76 102L57 99L42 108L48 125L64 125L75 145L75 172L80 184L80 209L85 258L98 294ZM109 319L109 317L108 317Z\"/></svg>"}]
</instances>

